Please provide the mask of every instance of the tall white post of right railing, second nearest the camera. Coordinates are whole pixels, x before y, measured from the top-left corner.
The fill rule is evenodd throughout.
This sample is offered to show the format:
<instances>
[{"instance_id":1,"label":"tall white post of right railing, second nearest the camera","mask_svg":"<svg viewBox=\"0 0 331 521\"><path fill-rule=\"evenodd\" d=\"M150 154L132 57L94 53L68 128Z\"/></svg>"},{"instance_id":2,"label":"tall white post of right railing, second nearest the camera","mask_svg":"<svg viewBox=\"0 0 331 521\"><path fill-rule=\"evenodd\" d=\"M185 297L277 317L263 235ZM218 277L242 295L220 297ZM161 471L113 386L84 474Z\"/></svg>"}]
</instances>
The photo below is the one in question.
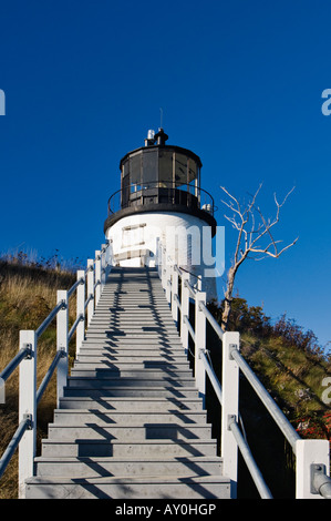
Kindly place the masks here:
<instances>
[{"instance_id":1,"label":"tall white post of right railing, second nearest the camera","mask_svg":"<svg viewBox=\"0 0 331 521\"><path fill-rule=\"evenodd\" d=\"M229 421L238 421L239 366L231 350L239 350L239 333L227 331L223 336L223 407L221 407L221 457L224 474L231 481L231 498L237 498L238 446L229 428Z\"/></svg>"}]
</instances>

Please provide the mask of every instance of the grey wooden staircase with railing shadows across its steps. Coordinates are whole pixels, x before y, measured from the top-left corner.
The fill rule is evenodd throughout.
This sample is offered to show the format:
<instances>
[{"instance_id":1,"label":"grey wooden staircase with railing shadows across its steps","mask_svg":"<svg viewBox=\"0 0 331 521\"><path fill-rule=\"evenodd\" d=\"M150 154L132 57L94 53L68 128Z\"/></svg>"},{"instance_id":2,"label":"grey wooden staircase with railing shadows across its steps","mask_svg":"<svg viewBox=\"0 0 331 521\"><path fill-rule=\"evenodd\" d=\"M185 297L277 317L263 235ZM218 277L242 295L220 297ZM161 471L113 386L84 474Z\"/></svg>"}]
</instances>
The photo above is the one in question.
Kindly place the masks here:
<instances>
[{"instance_id":1,"label":"grey wooden staircase with railing shadows across its steps","mask_svg":"<svg viewBox=\"0 0 331 521\"><path fill-rule=\"evenodd\" d=\"M229 497L157 270L114 268L27 499Z\"/></svg>"}]
</instances>

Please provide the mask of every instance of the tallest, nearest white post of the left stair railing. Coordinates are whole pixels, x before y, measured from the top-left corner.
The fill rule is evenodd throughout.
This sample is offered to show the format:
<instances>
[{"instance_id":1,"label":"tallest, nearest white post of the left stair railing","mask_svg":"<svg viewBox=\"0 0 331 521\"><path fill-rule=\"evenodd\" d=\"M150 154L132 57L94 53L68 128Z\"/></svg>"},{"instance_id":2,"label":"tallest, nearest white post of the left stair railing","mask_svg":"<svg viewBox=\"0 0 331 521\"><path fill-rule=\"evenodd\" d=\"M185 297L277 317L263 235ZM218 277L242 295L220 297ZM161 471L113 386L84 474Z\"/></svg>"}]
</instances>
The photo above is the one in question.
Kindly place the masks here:
<instances>
[{"instance_id":1,"label":"tallest, nearest white post of the left stair railing","mask_svg":"<svg viewBox=\"0 0 331 521\"><path fill-rule=\"evenodd\" d=\"M20 349L29 346L30 354L20 364L19 423L29 419L19 446L19 498L25 498L25 480L33 476L37 440L37 335L20 331Z\"/></svg>"}]
</instances>

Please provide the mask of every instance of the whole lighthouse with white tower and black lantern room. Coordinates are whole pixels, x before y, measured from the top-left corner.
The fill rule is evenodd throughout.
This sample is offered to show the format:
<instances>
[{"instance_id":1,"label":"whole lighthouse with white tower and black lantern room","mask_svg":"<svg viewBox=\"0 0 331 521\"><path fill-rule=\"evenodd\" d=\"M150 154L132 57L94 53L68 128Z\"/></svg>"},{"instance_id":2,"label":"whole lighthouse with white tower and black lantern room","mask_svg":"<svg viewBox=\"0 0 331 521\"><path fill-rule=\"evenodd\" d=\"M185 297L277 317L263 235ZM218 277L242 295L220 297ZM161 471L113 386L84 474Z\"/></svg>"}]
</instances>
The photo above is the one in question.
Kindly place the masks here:
<instances>
[{"instance_id":1,"label":"whole lighthouse with white tower and black lantern room","mask_svg":"<svg viewBox=\"0 0 331 521\"><path fill-rule=\"evenodd\" d=\"M149 130L144 146L120 162L121 188L108 200L104 223L113 263L154 267L161 243L167 258L216 298L214 198L200 186L199 156L167 141L163 129Z\"/></svg>"}]
</instances>

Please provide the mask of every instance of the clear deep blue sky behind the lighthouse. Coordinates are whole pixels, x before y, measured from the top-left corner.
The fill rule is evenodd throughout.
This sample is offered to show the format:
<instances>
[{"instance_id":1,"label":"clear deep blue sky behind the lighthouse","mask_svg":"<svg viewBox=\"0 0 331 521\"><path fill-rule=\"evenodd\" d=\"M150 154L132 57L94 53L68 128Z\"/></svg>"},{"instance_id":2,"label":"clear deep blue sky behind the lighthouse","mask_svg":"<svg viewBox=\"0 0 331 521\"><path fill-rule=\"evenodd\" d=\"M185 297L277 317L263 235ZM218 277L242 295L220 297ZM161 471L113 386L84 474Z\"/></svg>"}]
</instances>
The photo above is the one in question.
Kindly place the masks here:
<instances>
[{"instance_id":1,"label":"clear deep blue sky behind the lighthouse","mask_svg":"<svg viewBox=\"0 0 331 521\"><path fill-rule=\"evenodd\" d=\"M237 288L327 344L330 16L327 0L2 0L0 251L93 256L120 160L159 126L162 108L168 143L203 161L218 225L220 185L245 197L263 182L266 215L273 192L296 185L277 238L298 244L244 265ZM232 239L227 227L227 256Z\"/></svg>"}]
</instances>

